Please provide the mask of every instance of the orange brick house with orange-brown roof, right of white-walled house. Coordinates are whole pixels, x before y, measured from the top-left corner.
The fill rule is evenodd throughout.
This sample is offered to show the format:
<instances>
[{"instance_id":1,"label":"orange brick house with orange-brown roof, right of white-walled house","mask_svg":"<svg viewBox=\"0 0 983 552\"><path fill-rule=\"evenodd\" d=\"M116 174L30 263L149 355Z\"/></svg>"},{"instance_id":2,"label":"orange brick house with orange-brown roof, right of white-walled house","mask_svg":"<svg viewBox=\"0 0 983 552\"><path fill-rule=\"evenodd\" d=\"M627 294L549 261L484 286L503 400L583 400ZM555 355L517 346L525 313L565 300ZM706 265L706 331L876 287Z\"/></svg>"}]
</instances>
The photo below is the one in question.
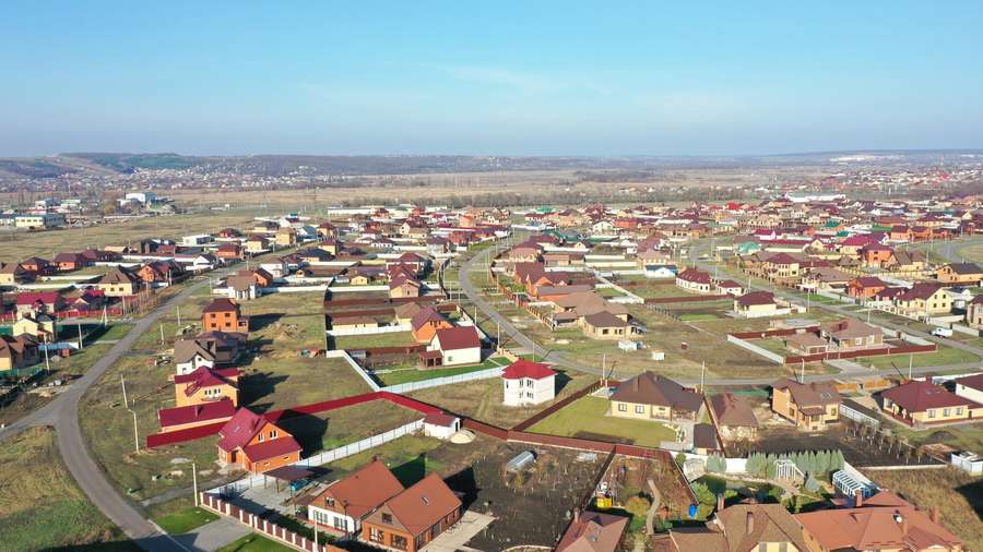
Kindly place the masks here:
<instances>
[{"instance_id":1,"label":"orange brick house with orange-brown roof, right of white-walled house","mask_svg":"<svg viewBox=\"0 0 983 552\"><path fill-rule=\"evenodd\" d=\"M362 539L416 552L461 519L461 500L437 473L389 499L362 523Z\"/></svg>"}]
</instances>

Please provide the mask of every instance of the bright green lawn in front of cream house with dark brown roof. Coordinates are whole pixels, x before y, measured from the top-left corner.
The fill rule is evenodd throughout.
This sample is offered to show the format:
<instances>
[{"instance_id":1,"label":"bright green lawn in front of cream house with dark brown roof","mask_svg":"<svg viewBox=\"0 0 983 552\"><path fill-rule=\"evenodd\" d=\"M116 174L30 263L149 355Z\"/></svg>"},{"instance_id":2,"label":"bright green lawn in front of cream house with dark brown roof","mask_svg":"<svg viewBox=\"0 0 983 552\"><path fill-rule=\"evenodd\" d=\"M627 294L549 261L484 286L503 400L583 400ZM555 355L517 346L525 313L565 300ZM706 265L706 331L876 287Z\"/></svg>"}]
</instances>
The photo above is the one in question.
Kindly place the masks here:
<instances>
[{"instance_id":1,"label":"bright green lawn in front of cream house with dark brown roof","mask_svg":"<svg viewBox=\"0 0 983 552\"><path fill-rule=\"evenodd\" d=\"M672 441L676 433L667 425L647 420L628 420L607 416L609 401L599 397L583 397L549 418L530 428L535 433L561 436L612 437L642 446L659 446Z\"/></svg>"}]
</instances>

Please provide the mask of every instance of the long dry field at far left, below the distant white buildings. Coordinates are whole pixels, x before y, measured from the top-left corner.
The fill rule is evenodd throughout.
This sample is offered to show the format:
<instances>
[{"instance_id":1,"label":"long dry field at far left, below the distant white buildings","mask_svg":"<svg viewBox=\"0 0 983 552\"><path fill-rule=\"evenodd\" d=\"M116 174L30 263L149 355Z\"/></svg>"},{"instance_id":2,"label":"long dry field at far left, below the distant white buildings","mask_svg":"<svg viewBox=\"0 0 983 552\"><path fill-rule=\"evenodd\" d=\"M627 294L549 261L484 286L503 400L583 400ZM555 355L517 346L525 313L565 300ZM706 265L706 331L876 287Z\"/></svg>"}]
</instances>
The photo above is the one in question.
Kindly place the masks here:
<instances>
[{"instance_id":1,"label":"long dry field at far left, below the distant white buildings","mask_svg":"<svg viewBox=\"0 0 983 552\"><path fill-rule=\"evenodd\" d=\"M0 259L22 261L32 255L46 259L68 251L106 245L126 245L144 238L179 238L191 233L215 232L226 227L242 227L261 211L202 212L187 215L145 217L91 228L70 228L40 232L0 232Z\"/></svg>"}]
</instances>

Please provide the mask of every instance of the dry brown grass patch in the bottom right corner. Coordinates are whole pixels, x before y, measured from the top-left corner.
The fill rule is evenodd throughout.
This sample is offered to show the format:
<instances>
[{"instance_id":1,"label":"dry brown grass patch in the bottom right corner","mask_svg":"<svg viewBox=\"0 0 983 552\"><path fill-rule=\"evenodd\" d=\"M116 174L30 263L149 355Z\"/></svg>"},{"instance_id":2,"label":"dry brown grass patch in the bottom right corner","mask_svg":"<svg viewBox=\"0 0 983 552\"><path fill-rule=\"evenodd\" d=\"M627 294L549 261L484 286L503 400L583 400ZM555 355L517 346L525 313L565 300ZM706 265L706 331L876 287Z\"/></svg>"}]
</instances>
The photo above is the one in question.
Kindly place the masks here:
<instances>
[{"instance_id":1,"label":"dry brown grass patch in the bottom right corner","mask_svg":"<svg viewBox=\"0 0 983 552\"><path fill-rule=\"evenodd\" d=\"M939 521L966 541L966 550L983 550L983 480L980 478L954 468L865 470L864 475L922 509L938 506Z\"/></svg>"}]
</instances>

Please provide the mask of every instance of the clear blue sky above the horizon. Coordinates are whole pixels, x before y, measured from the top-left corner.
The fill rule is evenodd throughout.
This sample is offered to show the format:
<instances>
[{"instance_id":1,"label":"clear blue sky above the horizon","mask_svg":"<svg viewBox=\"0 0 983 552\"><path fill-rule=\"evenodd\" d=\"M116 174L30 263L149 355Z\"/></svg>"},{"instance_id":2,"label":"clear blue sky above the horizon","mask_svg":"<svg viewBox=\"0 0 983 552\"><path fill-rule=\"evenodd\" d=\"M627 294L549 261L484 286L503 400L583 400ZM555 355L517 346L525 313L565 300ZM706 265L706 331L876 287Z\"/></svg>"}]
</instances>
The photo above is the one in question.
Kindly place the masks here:
<instances>
[{"instance_id":1,"label":"clear blue sky above the horizon","mask_svg":"<svg viewBox=\"0 0 983 552\"><path fill-rule=\"evenodd\" d=\"M0 155L983 147L983 2L691 3L14 0Z\"/></svg>"}]
</instances>

